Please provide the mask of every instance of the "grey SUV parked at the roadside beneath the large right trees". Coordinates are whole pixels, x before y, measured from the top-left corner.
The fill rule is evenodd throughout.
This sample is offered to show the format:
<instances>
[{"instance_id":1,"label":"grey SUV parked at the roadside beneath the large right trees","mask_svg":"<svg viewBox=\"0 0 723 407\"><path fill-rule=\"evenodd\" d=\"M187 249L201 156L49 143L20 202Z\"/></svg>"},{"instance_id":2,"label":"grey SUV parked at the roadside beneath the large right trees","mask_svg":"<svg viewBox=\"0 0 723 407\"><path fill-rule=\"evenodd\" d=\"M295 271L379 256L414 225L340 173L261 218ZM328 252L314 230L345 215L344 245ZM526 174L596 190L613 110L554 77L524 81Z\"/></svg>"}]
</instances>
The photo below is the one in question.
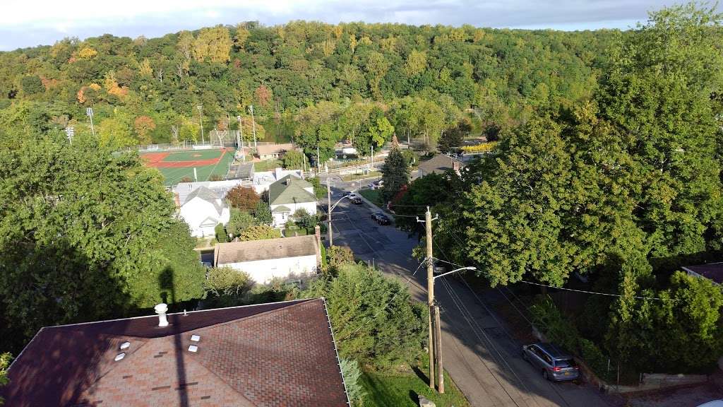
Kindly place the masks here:
<instances>
[{"instance_id":1,"label":"grey SUV parked at the roadside beneath the large right trees","mask_svg":"<svg viewBox=\"0 0 723 407\"><path fill-rule=\"evenodd\" d=\"M575 380L580 368L572 356L552 343L523 345L522 358L540 369L542 377L552 381Z\"/></svg>"}]
</instances>

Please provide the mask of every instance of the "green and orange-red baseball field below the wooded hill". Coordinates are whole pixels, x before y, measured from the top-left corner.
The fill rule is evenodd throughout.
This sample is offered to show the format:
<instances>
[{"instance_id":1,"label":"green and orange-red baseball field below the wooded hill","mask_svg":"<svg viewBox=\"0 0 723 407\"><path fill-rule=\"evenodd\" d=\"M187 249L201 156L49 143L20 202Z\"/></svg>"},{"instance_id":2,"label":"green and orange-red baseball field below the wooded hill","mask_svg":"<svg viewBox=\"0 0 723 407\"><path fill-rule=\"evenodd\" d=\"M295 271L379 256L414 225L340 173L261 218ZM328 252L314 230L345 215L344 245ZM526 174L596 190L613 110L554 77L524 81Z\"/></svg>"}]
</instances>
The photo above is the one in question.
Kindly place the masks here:
<instances>
[{"instance_id":1,"label":"green and orange-red baseball field below the wooded hill","mask_svg":"<svg viewBox=\"0 0 723 407\"><path fill-rule=\"evenodd\" d=\"M148 167L161 171L163 177L166 177L166 185L176 185L185 177L195 180L194 168L199 181L208 181L211 175L226 175L228 164L234 161L234 151L232 149L163 151L141 154L141 159Z\"/></svg>"}]
</instances>

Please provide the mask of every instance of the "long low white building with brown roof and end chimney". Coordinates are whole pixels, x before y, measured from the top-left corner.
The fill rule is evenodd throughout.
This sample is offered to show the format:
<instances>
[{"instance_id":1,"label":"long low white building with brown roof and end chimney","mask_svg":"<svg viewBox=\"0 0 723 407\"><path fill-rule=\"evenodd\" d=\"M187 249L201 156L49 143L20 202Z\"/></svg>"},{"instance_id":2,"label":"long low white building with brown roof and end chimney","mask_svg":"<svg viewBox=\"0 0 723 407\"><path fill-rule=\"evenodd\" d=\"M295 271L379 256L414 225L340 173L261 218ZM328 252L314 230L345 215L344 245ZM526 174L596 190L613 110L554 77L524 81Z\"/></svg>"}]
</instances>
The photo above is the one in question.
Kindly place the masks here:
<instances>
[{"instance_id":1,"label":"long low white building with brown roof and end chimney","mask_svg":"<svg viewBox=\"0 0 723 407\"><path fill-rule=\"evenodd\" d=\"M306 280L321 266L319 228L316 235L218 243L213 265L246 272L259 284L275 279Z\"/></svg>"}]
</instances>

